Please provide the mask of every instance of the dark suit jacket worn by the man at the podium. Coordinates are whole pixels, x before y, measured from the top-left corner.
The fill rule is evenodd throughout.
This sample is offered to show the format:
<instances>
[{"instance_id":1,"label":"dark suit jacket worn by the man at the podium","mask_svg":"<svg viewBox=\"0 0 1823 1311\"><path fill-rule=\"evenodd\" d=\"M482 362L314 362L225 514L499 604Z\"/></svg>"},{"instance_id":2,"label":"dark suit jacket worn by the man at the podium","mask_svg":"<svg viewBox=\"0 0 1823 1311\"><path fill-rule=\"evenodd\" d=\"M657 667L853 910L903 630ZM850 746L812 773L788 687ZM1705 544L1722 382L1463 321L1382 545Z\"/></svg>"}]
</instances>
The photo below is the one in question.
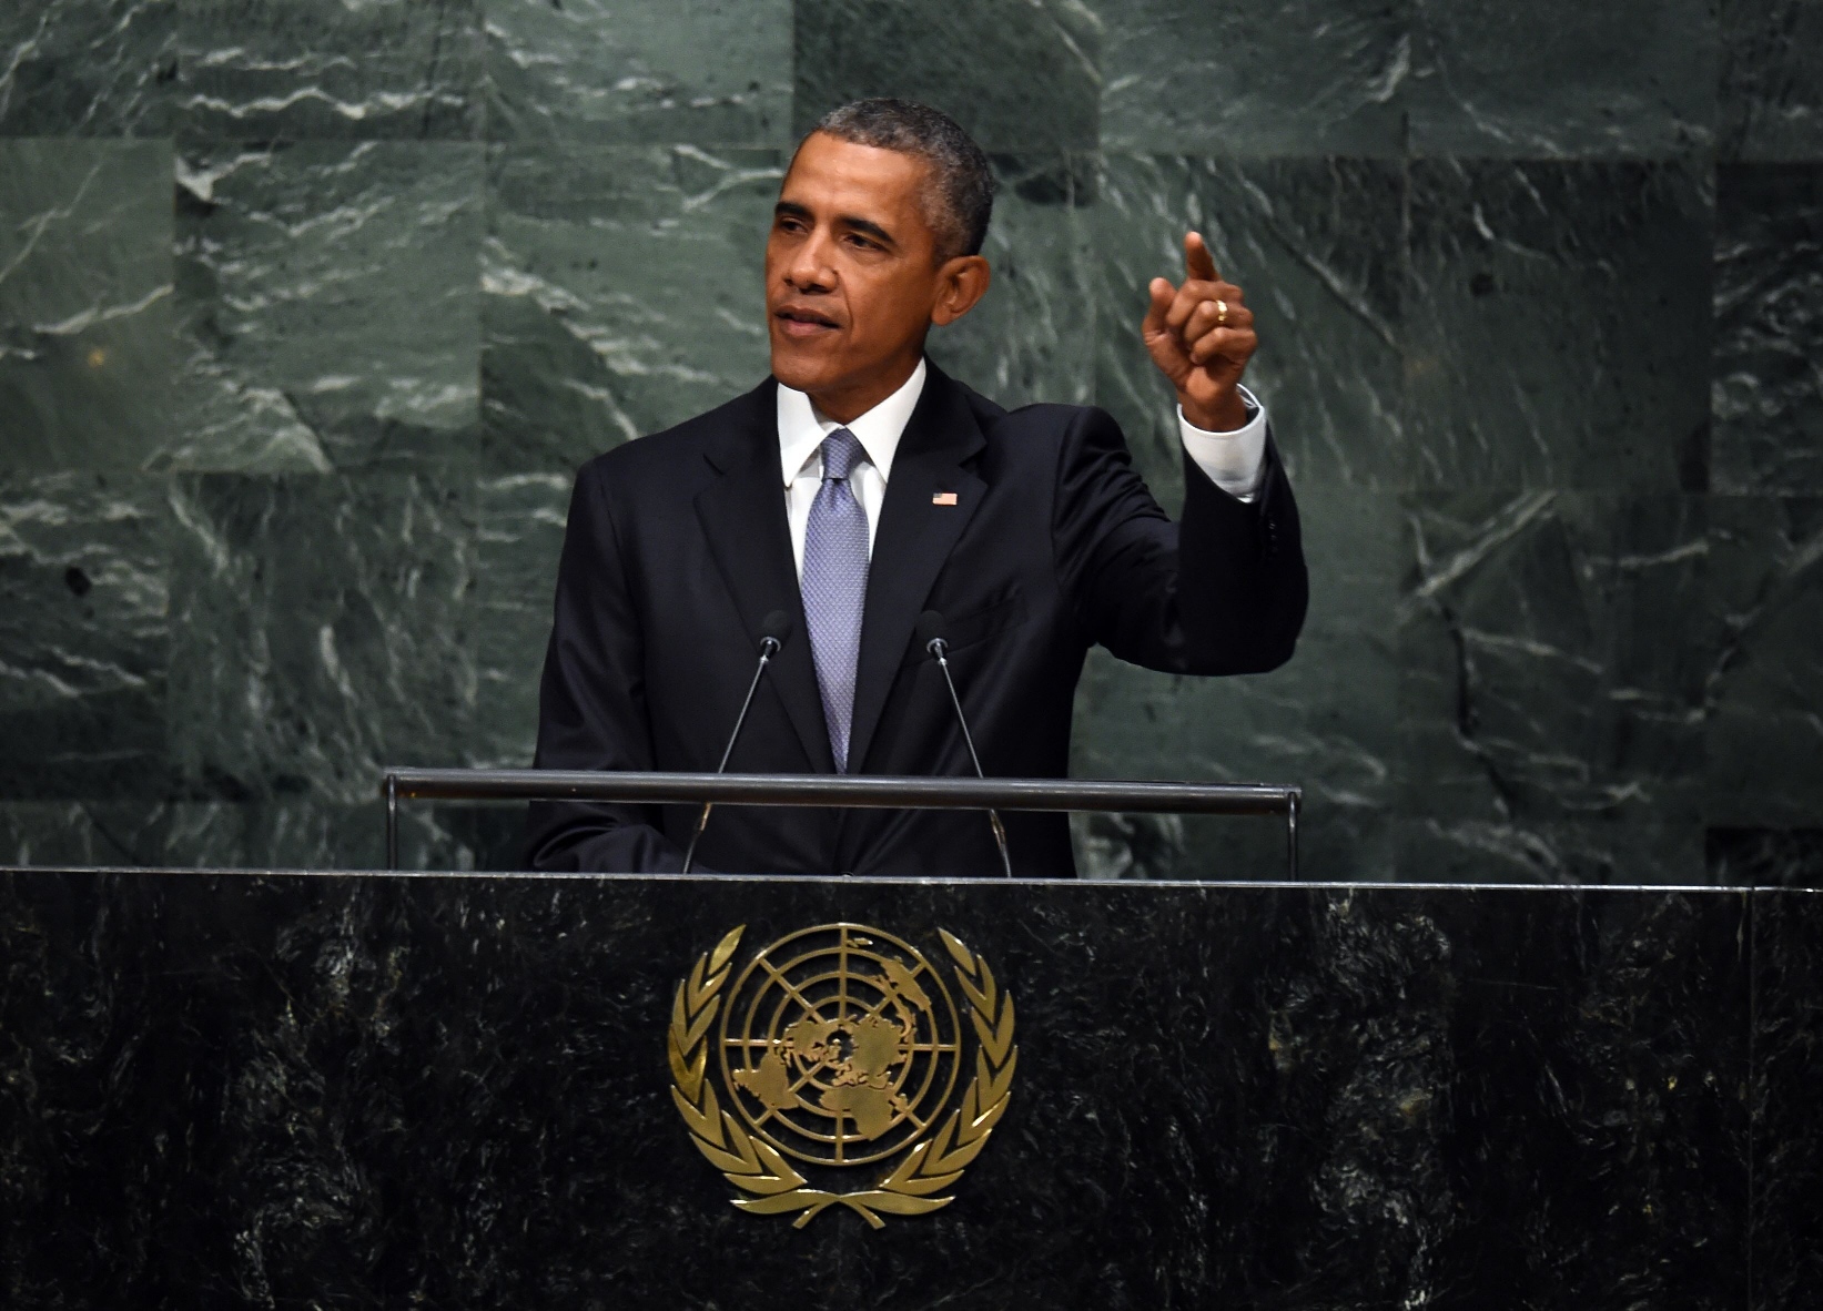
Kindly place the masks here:
<instances>
[{"instance_id":1,"label":"dark suit jacket worn by the man at the podium","mask_svg":"<svg viewBox=\"0 0 1823 1311\"><path fill-rule=\"evenodd\" d=\"M778 470L775 383L583 465L571 501L538 722L547 769L720 760L771 611L793 631L729 769L831 773ZM950 667L990 775L1063 777L1096 642L1167 673L1260 673L1303 625L1298 511L1267 443L1252 503L1185 456L1183 521L1096 408L1006 412L935 366L893 456L868 573L855 773L968 775L942 673L915 640L948 618ZM955 492L955 505L935 505ZM536 870L682 866L695 808L538 804ZM1063 815L1006 815L1017 875L1074 872ZM994 875L979 811L716 806L698 866L764 873Z\"/></svg>"}]
</instances>

